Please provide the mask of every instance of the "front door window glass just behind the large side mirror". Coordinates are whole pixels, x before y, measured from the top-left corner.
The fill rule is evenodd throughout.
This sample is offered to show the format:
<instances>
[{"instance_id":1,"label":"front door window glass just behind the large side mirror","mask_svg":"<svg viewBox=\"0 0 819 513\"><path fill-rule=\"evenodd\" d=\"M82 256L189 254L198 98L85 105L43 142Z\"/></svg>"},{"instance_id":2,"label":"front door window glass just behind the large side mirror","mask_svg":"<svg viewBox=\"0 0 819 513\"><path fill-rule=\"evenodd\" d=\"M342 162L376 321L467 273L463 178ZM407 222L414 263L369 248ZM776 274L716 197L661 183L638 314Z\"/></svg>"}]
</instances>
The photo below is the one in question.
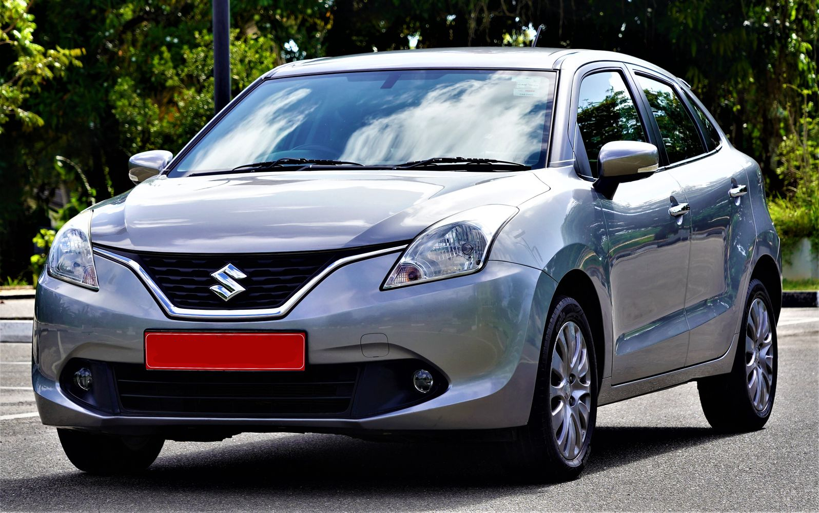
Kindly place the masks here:
<instances>
[{"instance_id":1,"label":"front door window glass just behind the large side mirror","mask_svg":"<svg viewBox=\"0 0 819 513\"><path fill-rule=\"evenodd\" d=\"M645 142L637 108L617 71L590 74L583 79L577 102L577 126L593 173L597 170L597 155L605 143Z\"/></svg>"}]
</instances>

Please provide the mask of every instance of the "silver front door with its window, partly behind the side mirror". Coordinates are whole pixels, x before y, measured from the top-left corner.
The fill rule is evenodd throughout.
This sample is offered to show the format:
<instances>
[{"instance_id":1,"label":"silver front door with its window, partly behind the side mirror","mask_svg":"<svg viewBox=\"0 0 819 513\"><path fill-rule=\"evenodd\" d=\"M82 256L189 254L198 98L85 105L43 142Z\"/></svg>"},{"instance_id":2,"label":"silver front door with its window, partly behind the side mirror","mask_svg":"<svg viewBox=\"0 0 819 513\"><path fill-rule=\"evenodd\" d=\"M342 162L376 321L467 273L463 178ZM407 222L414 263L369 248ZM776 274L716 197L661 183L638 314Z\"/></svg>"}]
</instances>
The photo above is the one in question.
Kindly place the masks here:
<instances>
[{"instance_id":1,"label":"silver front door with its window, partly behind the side mirror","mask_svg":"<svg viewBox=\"0 0 819 513\"><path fill-rule=\"evenodd\" d=\"M596 178L597 155L606 142L662 144L645 122L645 112L640 114L641 103L624 65L581 68L575 91L573 146L581 176ZM686 203L680 185L670 173L654 173L620 184L611 199L600 195L598 202L608 234L613 384L683 367L690 220L680 209ZM680 214L672 215L670 209Z\"/></svg>"}]
</instances>

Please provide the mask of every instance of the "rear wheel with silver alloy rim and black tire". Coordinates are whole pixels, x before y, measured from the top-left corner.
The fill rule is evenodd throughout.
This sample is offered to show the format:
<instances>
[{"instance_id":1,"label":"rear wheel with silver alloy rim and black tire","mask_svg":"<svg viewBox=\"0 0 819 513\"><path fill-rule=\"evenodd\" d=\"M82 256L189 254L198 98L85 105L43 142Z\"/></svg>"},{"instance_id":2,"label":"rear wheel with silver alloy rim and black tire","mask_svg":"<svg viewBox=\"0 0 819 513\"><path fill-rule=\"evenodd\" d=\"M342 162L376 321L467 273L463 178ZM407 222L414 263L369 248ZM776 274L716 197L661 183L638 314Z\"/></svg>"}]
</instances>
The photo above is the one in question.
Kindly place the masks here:
<instances>
[{"instance_id":1,"label":"rear wheel with silver alloy rim and black tire","mask_svg":"<svg viewBox=\"0 0 819 513\"><path fill-rule=\"evenodd\" d=\"M749 283L731 372L699 380L697 389L705 418L715 430L760 430L771 416L776 396L776 320L762 281Z\"/></svg>"}]
</instances>

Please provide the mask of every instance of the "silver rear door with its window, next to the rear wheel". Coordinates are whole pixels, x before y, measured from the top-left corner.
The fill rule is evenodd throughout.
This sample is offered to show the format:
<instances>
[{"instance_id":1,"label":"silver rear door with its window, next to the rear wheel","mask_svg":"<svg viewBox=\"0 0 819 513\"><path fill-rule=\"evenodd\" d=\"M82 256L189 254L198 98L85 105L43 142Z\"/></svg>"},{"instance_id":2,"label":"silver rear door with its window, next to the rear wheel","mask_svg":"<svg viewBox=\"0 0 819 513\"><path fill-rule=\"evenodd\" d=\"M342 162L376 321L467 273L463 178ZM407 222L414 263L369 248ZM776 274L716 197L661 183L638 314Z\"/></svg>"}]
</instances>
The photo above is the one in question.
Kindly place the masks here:
<instances>
[{"instance_id":1,"label":"silver rear door with its window, next to the rear wheel","mask_svg":"<svg viewBox=\"0 0 819 513\"><path fill-rule=\"evenodd\" d=\"M741 315L747 249L735 242L740 232L753 233L750 198L744 196L748 178L689 93L651 70L633 71L663 137L666 173L681 184L690 205L686 366L693 365L726 353Z\"/></svg>"}]
</instances>

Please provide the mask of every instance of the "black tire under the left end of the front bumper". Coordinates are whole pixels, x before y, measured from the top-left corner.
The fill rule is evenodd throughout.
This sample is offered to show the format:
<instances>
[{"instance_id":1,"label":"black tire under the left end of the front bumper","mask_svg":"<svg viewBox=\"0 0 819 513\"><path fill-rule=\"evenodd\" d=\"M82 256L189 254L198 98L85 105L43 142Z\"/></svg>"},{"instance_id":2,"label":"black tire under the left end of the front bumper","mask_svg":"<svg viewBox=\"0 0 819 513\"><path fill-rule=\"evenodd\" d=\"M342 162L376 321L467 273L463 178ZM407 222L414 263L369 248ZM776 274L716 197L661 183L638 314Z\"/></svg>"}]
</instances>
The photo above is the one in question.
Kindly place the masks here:
<instances>
[{"instance_id":1,"label":"black tire under the left end of the front bumper","mask_svg":"<svg viewBox=\"0 0 819 513\"><path fill-rule=\"evenodd\" d=\"M63 451L79 470L88 474L129 474L147 469L162 450L164 439L118 437L57 429Z\"/></svg>"}]
</instances>

